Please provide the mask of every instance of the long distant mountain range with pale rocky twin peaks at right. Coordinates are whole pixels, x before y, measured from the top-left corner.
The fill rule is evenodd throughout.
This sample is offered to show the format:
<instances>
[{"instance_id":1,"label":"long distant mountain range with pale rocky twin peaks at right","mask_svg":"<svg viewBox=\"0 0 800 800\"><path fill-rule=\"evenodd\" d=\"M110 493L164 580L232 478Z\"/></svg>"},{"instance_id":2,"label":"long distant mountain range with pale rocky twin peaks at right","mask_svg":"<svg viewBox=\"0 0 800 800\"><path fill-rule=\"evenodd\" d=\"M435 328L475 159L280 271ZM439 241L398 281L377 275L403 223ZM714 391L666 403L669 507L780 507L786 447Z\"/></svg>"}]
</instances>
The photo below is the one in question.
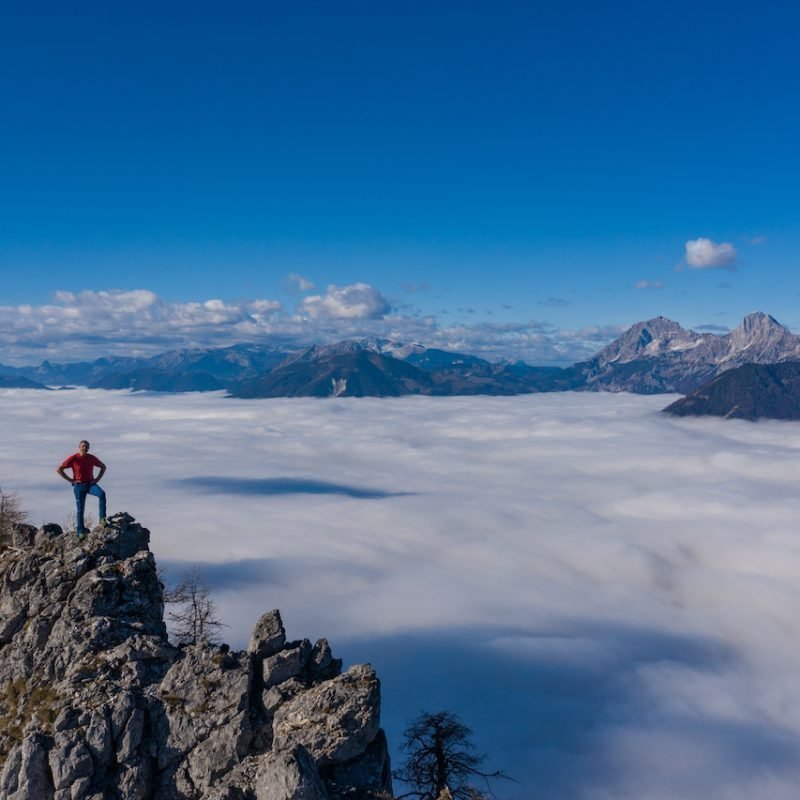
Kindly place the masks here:
<instances>
[{"instance_id":1,"label":"long distant mountain range with pale rocky twin peaks at right","mask_svg":"<svg viewBox=\"0 0 800 800\"><path fill-rule=\"evenodd\" d=\"M698 333L665 317L638 322L592 358L570 367L490 362L419 343L345 340L288 351L237 344L147 358L100 358L38 367L0 365L5 386L82 385L150 391L226 389L235 397L510 395L550 391L687 394L744 364L800 361L800 336L768 314L747 315L727 334ZM16 382L16 383L15 383Z\"/></svg>"}]
</instances>

